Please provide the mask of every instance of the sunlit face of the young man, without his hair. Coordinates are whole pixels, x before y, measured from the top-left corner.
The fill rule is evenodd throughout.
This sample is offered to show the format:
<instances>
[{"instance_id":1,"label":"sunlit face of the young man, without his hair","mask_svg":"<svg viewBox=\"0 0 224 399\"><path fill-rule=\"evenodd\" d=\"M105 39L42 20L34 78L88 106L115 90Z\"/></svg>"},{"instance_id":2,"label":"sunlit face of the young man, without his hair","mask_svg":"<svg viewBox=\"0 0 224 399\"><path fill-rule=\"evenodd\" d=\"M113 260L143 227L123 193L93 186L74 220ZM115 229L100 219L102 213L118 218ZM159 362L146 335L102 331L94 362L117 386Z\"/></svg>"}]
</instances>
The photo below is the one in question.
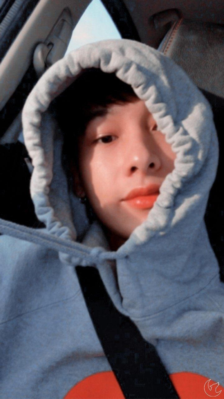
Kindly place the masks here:
<instances>
[{"instance_id":1,"label":"sunlit face of the young man, without his hair","mask_svg":"<svg viewBox=\"0 0 224 399\"><path fill-rule=\"evenodd\" d=\"M76 194L87 196L122 243L147 218L175 158L142 100L113 104L105 116L89 122L79 139Z\"/></svg>"}]
</instances>

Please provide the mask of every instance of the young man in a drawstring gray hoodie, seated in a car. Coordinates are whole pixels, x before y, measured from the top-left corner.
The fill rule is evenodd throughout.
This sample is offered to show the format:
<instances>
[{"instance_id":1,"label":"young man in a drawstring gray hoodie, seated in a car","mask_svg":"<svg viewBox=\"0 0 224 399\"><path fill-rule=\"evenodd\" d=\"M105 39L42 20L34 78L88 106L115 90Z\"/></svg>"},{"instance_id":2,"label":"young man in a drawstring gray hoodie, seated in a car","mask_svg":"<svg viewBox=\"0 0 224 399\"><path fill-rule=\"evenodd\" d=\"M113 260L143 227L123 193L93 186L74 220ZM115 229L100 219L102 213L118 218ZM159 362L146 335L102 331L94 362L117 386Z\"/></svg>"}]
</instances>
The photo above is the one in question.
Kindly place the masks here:
<instances>
[{"instance_id":1,"label":"young man in a drawstring gray hoodie, seated in a car","mask_svg":"<svg viewBox=\"0 0 224 399\"><path fill-rule=\"evenodd\" d=\"M111 86L100 71L93 78L92 68L115 73ZM93 92L84 85L88 73L98 82ZM126 85L115 95L116 79ZM108 99L102 103L95 101L99 86ZM61 132L47 110L63 91ZM158 51L101 41L43 75L23 126L31 197L46 229L30 237L23 228L32 243L21 240L19 227L18 239L1 237L9 281L1 396L122 397L80 291L73 266L82 265L98 268L116 308L155 345L180 397L224 397L224 285L204 224L218 163L206 99ZM77 197L87 198L87 217Z\"/></svg>"}]
</instances>

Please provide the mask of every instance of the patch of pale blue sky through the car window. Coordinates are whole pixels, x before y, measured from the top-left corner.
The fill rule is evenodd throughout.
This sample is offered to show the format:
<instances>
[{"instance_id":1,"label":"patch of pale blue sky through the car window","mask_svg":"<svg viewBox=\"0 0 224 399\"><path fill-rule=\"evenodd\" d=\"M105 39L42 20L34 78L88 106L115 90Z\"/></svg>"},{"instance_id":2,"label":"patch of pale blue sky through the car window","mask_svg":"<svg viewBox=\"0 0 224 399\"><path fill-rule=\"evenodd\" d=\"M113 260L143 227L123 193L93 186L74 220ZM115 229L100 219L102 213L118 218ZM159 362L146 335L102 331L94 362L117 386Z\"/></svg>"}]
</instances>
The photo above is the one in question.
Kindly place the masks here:
<instances>
[{"instance_id":1,"label":"patch of pale blue sky through the car window","mask_svg":"<svg viewBox=\"0 0 224 399\"><path fill-rule=\"evenodd\" d=\"M120 37L120 33L101 1L92 0L73 30L66 53L86 43Z\"/></svg>"}]
</instances>

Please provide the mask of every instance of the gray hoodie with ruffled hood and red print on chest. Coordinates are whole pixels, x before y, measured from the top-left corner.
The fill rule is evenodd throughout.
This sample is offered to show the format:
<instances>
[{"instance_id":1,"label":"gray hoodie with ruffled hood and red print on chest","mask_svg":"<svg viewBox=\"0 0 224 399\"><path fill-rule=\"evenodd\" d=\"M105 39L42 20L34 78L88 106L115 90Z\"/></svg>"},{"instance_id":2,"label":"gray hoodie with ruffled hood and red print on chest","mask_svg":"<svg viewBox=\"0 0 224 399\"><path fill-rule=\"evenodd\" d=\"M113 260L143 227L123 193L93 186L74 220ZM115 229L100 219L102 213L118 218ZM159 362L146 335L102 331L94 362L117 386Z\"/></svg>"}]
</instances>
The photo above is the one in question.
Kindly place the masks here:
<instances>
[{"instance_id":1,"label":"gray hoodie with ruffled hood and red print on chest","mask_svg":"<svg viewBox=\"0 0 224 399\"><path fill-rule=\"evenodd\" d=\"M63 134L47 112L89 67L130 84L177 155L147 219L117 251L68 189ZM155 345L181 397L224 397L224 284L204 223L218 140L206 99L159 51L105 40L49 68L28 96L22 120L34 167L31 198L46 228L2 221L0 397L63 398L72 389L79 397L76 389L91 386L90 376L111 373L75 265L97 267L116 308Z\"/></svg>"}]
</instances>

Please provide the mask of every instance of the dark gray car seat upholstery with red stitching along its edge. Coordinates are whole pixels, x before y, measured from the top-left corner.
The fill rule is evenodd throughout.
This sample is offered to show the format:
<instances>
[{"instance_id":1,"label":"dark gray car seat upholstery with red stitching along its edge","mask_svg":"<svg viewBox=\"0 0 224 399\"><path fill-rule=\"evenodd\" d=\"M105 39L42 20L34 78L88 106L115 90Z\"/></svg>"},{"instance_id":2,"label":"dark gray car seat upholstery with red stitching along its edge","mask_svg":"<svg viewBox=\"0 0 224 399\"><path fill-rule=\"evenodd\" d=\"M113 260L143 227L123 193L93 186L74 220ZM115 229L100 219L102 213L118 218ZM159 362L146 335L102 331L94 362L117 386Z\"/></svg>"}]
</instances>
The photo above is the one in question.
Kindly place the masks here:
<instances>
[{"instance_id":1,"label":"dark gray car seat upholstery with red stitching along its edge","mask_svg":"<svg viewBox=\"0 0 224 399\"><path fill-rule=\"evenodd\" d=\"M200 89L224 97L224 26L181 18L159 50L179 64Z\"/></svg>"}]
</instances>

